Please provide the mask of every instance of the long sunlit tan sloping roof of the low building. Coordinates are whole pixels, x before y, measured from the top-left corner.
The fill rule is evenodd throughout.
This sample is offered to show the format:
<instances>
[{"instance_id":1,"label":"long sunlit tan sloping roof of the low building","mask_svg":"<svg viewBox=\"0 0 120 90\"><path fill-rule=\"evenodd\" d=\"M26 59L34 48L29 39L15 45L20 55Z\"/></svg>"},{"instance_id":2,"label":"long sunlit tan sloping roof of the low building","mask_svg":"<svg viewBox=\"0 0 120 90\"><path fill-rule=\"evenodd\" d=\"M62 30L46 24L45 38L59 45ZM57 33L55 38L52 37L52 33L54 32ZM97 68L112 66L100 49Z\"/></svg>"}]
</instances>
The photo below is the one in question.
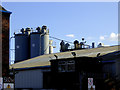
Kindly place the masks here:
<instances>
[{"instance_id":1,"label":"long sunlit tan sloping roof of the low building","mask_svg":"<svg viewBox=\"0 0 120 90\"><path fill-rule=\"evenodd\" d=\"M12 64L12 65L10 65L10 68L17 69L17 68L48 66L48 65L50 65L49 61L51 59L56 59L54 55L57 55L58 59L72 58L73 55L71 54L71 52L75 52L76 57L96 57L98 53L100 53L100 55L105 55L105 54L108 54L111 52L119 51L119 49L120 49L120 45L53 53L53 54L38 56L38 57L35 57L32 59L28 59L25 61L21 61L21 62Z\"/></svg>"}]
</instances>

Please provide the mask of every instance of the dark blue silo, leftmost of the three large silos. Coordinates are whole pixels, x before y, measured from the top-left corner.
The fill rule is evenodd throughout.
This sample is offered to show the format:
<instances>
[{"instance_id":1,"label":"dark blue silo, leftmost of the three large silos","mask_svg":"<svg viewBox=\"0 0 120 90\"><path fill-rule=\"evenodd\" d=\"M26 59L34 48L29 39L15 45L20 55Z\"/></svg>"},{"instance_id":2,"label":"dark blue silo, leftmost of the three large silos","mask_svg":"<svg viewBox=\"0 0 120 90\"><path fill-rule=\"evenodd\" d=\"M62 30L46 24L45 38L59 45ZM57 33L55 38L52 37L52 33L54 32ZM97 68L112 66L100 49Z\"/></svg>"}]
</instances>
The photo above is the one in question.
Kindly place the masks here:
<instances>
[{"instance_id":1,"label":"dark blue silo, leftmost of the three large silos","mask_svg":"<svg viewBox=\"0 0 120 90\"><path fill-rule=\"evenodd\" d=\"M15 34L15 62L29 59L29 36Z\"/></svg>"}]
</instances>

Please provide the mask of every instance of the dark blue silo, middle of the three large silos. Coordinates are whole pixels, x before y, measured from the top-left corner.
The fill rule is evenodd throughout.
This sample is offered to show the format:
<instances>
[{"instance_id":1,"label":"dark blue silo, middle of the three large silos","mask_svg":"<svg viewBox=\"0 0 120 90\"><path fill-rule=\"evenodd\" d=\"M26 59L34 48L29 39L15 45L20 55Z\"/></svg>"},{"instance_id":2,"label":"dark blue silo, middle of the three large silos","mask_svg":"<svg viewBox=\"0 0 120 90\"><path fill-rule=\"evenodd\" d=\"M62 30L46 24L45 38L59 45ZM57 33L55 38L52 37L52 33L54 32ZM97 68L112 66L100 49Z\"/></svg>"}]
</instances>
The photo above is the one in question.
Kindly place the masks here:
<instances>
[{"instance_id":1,"label":"dark blue silo, middle of the three large silos","mask_svg":"<svg viewBox=\"0 0 120 90\"><path fill-rule=\"evenodd\" d=\"M36 57L41 55L41 28L36 28L37 32L30 34L30 57Z\"/></svg>"}]
</instances>

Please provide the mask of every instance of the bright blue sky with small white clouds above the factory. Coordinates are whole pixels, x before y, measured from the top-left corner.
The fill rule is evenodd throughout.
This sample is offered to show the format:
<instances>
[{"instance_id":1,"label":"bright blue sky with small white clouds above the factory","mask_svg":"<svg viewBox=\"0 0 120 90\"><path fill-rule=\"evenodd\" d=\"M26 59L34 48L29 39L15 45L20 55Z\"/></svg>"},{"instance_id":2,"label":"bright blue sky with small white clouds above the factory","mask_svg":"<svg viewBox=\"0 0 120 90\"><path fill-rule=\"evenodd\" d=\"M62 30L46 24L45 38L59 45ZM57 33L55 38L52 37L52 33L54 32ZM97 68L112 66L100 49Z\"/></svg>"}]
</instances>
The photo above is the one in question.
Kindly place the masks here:
<instances>
[{"instance_id":1,"label":"bright blue sky with small white clouds above the factory","mask_svg":"<svg viewBox=\"0 0 120 90\"><path fill-rule=\"evenodd\" d=\"M46 25L50 36L61 40L74 42L84 37L89 45L118 44L117 2L2 2L2 6L12 12L10 37L21 28L35 30ZM59 52L60 41L52 40L54 53ZM14 48L14 39L10 48Z\"/></svg>"}]
</instances>

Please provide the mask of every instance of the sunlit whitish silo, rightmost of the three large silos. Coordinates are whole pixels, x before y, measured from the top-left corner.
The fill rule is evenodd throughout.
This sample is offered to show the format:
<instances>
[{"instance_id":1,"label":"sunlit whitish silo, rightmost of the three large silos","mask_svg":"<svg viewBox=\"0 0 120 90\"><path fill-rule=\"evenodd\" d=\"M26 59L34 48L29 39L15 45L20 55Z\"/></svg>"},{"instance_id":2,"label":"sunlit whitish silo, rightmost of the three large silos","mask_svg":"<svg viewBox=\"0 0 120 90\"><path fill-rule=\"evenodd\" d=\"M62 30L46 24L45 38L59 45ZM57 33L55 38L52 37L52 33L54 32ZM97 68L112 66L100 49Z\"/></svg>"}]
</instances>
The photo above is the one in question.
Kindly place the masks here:
<instances>
[{"instance_id":1,"label":"sunlit whitish silo, rightmost of the three large silos","mask_svg":"<svg viewBox=\"0 0 120 90\"><path fill-rule=\"evenodd\" d=\"M41 55L49 54L49 30L47 30L47 26L42 26L41 32Z\"/></svg>"}]
</instances>

